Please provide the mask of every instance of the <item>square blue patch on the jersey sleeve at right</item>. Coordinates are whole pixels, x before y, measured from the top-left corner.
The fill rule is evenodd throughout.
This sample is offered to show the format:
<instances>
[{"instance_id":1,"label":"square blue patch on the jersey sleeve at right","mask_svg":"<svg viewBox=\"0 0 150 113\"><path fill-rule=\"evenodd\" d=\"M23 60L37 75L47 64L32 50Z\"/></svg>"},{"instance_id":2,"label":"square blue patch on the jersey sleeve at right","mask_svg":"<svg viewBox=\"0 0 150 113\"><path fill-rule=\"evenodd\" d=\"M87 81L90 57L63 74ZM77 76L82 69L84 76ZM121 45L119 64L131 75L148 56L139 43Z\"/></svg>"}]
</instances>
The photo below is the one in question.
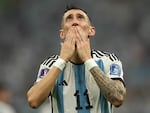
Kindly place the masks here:
<instances>
[{"instance_id":1,"label":"square blue patch on the jersey sleeve at right","mask_svg":"<svg viewBox=\"0 0 150 113\"><path fill-rule=\"evenodd\" d=\"M118 64L111 64L110 66L110 75L118 75L121 74L121 68Z\"/></svg>"}]
</instances>

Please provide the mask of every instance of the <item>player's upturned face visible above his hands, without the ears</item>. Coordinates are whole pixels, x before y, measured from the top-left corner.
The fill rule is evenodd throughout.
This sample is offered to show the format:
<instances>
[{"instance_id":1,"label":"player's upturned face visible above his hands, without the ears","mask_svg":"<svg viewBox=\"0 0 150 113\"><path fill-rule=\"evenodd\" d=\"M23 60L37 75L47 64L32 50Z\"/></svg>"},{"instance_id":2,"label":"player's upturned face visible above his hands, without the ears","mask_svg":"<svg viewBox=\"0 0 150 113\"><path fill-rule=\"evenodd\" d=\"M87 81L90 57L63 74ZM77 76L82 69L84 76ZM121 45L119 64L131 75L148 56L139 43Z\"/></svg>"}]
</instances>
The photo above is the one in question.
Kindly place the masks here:
<instances>
[{"instance_id":1,"label":"player's upturned face visible above his hands, without the ears","mask_svg":"<svg viewBox=\"0 0 150 113\"><path fill-rule=\"evenodd\" d=\"M72 9L64 14L62 20L62 30L64 37L66 36L69 29L73 29L75 27L78 30L84 32L88 37L91 24L86 13L79 9Z\"/></svg>"}]
</instances>

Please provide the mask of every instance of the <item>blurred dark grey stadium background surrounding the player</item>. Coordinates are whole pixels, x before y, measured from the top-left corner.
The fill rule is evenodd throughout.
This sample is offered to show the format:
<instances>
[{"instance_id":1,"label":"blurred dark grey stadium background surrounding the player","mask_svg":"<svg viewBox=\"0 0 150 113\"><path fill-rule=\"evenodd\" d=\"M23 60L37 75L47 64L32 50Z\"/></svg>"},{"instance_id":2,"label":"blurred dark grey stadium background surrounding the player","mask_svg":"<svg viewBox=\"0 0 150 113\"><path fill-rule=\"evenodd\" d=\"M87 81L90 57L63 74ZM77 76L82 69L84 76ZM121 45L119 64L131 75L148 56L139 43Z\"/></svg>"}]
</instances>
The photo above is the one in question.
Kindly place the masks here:
<instances>
[{"instance_id":1,"label":"blurred dark grey stadium background surrounding the player","mask_svg":"<svg viewBox=\"0 0 150 113\"><path fill-rule=\"evenodd\" d=\"M59 53L61 16L72 2L96 27L92 48L113 52L123 63L127 97L115 113L150 113L149 0L0 0L0 82L16 112L47 113L42 106L31 109L26 92L40 63Z\"/></svg>"}]
</instances>

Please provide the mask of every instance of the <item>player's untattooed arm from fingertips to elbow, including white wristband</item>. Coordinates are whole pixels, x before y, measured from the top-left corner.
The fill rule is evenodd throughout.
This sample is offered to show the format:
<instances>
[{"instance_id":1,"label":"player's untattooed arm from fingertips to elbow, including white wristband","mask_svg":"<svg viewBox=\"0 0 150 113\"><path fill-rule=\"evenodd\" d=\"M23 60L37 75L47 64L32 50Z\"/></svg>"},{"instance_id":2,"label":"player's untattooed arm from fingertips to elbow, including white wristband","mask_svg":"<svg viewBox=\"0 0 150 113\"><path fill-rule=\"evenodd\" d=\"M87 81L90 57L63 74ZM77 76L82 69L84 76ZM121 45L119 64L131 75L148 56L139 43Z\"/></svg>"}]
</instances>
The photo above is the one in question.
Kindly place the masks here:
<instances>
[{"instance_id":1,"label":"player's untattooed arm from fingertips to elbow, including white wristband","mask_svg":"<svg viewBox=\"0 0 150 113\"><path fill-rule=\"evenodd\" d=\"M61 43L60 58L66 62L71 58L75 51L75 39L73 32L73 29L70 29L68 34L66 35L65 41ZM32 86L27 92L28 102L32 108L37 108L38 106L40 106L49 96L60 71L63 69L58 68L60 65L63 65L63 67L65 66L63 62L60 62L60 60L57 59L47 75L44 76L44 78L37 84Z\"/></svg>"}]
</instances>

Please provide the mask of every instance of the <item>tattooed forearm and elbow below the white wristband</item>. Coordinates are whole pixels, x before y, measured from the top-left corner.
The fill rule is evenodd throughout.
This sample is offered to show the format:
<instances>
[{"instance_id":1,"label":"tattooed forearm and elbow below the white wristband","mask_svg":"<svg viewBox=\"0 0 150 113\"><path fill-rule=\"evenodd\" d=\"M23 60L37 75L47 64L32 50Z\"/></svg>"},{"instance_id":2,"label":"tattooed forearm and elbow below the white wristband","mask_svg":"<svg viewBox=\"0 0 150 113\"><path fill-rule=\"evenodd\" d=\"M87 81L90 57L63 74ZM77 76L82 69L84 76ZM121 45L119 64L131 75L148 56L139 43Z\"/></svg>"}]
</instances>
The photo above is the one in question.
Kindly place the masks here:
<instances>
[{"instance_id":1,"label":"tattooed forearm and elbow below the white wristband","mask_svg":"<svg viewBox=\"0 0 150 113\"><path fill-rule=\"evenodd\" d=\"M123 101L125 96L125 88L121 81L110 79L99 67L93 67L90 70L97 85L101 89L105 98L111 103Z\"/></svg>"}]
</instances>

